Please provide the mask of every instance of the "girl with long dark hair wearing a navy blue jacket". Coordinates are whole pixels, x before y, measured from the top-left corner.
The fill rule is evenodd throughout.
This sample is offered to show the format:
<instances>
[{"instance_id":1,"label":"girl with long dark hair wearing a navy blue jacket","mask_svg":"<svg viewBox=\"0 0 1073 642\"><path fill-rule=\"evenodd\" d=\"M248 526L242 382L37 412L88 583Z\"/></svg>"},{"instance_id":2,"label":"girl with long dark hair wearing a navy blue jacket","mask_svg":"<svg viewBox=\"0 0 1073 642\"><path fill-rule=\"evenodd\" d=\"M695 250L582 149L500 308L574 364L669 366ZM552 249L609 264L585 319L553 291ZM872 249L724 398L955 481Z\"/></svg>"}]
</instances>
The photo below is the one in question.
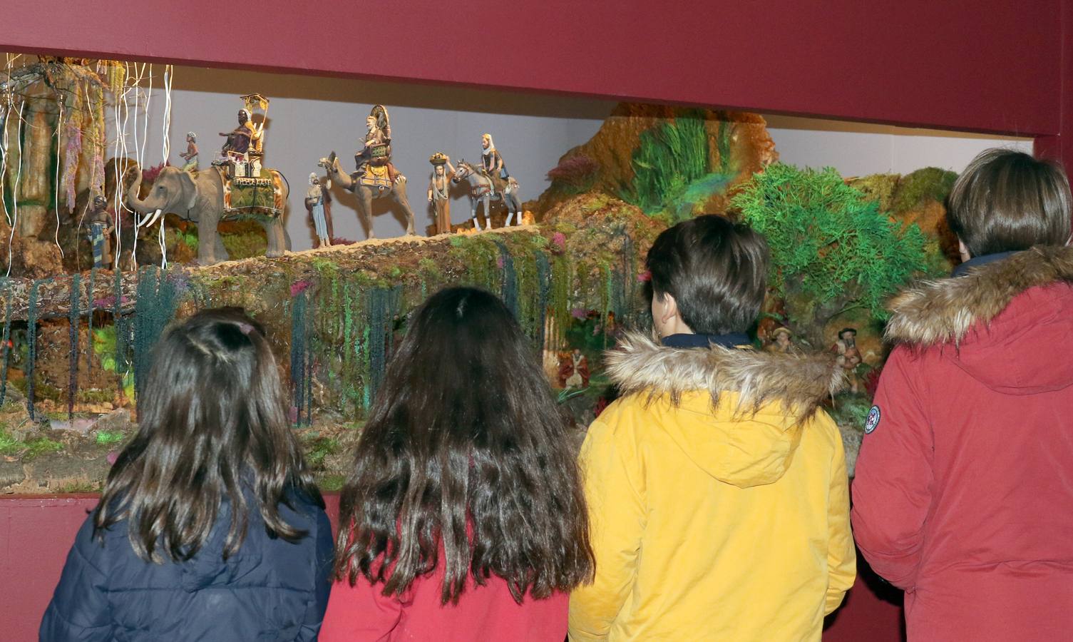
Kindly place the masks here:
<instances>
[{"instance_id":1,"label":"girl with long dark hair wearing a navy blue jacket","mask_svg":"<svg viewBox=\"0 0 1073 642\"><path fill-rule=\"evenodd\" d=\"M205 310L155 350L138 432L76 536L41 639L315 640L332 530L264 330Z\"/></svg>"}]
</instances>

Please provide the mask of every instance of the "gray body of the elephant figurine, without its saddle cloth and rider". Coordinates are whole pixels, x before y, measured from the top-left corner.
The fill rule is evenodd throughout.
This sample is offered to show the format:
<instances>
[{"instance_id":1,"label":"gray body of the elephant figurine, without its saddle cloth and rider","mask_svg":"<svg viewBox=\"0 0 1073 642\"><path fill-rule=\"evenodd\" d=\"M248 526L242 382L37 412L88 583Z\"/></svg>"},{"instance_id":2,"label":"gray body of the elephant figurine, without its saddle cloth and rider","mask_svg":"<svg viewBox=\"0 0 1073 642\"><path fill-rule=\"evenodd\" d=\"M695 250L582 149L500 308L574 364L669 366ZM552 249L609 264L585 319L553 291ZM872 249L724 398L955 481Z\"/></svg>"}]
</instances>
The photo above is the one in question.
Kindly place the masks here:
<instances>
[{"instance_id":1,"label":"gray body of the elephant figurine, without its saddle cloth and rider","mask_svg":"<svg viewBox=\"0 0 1073 642\"><path fill-rule=\"evenodd\" d=\"M201 172L183 172L178 167L166 166L157 175L152 188L145 199L138 198L142 187L142 172L131 167L128 172L136 172L133 183L127 189L127 205L139 214L146 215L141 224L153 224L163 214L174 214L185 220L197 223L197 263L211 265L218 261L227 260L227 250L223 247L217 230L220 221L226 219L223 203L223 180L216 167ZM276 170L265 170L265 173L279 174ZM286 203L286 179L279 175L282 185L283 203ZM152 215L152 218L149 218ZM258 217L268 238L268 250L265 256L280 257L284 250L291 249L291 238L283 224L283 216Z\"/></svg>"}]
</instances>

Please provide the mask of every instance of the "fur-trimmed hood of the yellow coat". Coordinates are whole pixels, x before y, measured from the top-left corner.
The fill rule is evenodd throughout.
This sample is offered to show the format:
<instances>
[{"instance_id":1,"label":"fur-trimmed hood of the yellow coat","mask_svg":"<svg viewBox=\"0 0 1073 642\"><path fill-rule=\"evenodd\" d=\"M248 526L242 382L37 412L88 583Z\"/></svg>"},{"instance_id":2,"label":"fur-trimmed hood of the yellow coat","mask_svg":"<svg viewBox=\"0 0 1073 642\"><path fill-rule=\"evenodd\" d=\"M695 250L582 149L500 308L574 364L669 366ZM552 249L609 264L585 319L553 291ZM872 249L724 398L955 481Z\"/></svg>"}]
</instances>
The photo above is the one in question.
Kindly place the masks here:
<instances>
[{"instance_id":1,"label":"fur-trimmed hood of the yellow coat","mask_svg":"<svg viewBox=\"0 0 1073 642\"><path fill-rule=\"evenodd\" d=\"M740 487L785 473L805 420L843 383L825 355L668 348L641 334L627 335L604 363L624 397L605 412L643 413L636 421L647 429L661 429L708 475Z\"/></svg>"}]
</instances>

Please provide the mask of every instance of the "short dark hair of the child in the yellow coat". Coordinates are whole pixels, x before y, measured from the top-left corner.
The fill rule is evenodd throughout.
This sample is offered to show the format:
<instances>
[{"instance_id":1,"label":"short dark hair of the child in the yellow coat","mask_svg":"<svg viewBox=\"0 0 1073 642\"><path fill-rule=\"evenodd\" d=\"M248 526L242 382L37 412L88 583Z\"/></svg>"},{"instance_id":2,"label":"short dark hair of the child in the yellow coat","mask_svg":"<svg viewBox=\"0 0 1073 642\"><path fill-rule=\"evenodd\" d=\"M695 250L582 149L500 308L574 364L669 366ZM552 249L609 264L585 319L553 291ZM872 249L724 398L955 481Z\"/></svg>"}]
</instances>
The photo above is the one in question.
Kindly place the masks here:
<instances>
[{"instance_id":1,"label":"short dark hair of the child in the yellow coat","mask_svg":"<svg viewBox=\"0 0 1073 642\"><path fill-rule=\"evenodd\" d=\"M646 261L652 295L674 296L697 334L745 332L760 315L767 242L744 223L708 214L664 230Z\"/></svg>"}]
</instances>

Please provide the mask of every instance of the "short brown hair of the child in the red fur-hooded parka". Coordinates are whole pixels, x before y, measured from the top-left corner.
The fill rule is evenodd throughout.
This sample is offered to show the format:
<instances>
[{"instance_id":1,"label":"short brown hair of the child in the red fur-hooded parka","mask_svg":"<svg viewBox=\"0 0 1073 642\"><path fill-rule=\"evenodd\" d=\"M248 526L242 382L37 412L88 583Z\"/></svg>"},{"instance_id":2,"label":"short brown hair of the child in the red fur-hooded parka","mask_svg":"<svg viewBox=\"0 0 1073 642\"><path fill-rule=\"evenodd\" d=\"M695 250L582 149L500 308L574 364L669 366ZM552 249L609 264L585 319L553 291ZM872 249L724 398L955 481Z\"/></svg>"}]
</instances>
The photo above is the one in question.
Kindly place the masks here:
<instances>
[{"instance_id":1,"label":"short brown hair of the child in the red fur-hooded parka","mask_svg":"<svg viewBox=\"0 0 1073 642\"><path fill-rule=\"evenodd\" d=\"M946 220L973 257L1062 246L1070 239L1070 201L1057 163L985 149L954 183Z\"/></svg>"}]
</instances>

